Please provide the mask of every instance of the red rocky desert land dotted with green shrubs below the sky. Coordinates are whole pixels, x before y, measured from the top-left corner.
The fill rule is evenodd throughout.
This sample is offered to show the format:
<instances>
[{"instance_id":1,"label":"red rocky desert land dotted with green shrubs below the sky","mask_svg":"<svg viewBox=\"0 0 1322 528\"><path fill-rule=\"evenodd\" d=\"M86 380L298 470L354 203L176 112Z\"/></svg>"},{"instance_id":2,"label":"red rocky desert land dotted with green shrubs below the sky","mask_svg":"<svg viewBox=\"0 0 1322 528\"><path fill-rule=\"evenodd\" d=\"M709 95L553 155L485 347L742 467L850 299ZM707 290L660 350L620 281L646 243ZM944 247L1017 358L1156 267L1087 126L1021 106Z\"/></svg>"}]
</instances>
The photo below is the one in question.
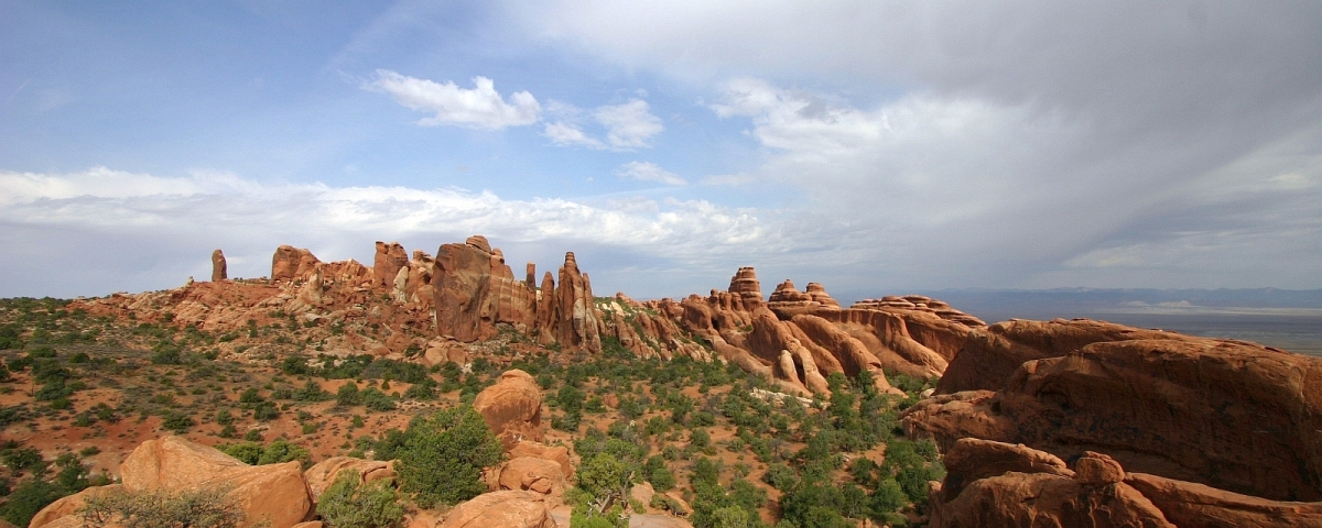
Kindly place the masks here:
<instances>
[{"instance_id":1,"label":"red rocky desert land dotted with green shrubs below the sky","mask_svg":"<svg viewBox=\"0 0 1322 528\"><path fill-rule=\"evenodd\" d=\"M250 520L373 525L319 510L354 469L362 490L389 483L411 527L571 511L586 525L1322 525L1322 364L1255 343L989 326L919 296L843 308L788 280L764 297L752 268L709 296L595 297L572 253L517 280L480 236L435 257L378 243L371 267L280 247L258 280L226 277L219 251L213 265L171 290L0 301L0 517L75 523L83 499L46 504L223 483ZM422 500L390 461L419 418L467 408L500 442L486 494ZM279 486L304 499L262 506Z\"/></svg>"}]
</instances>

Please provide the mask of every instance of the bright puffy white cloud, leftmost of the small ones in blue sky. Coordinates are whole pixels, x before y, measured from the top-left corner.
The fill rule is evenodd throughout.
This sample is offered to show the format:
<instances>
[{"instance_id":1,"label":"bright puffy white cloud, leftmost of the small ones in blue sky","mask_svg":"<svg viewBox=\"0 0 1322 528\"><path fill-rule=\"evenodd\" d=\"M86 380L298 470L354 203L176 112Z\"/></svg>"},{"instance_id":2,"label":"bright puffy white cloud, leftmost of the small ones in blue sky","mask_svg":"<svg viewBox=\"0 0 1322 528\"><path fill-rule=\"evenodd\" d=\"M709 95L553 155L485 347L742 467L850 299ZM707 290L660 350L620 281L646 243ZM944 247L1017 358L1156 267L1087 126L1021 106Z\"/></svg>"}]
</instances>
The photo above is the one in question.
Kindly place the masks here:
<instances>
[{"instance_id":1,"label":"bright puffy white cloud, leftmost of the small ones in blue sky","mask_svg":"<svg viewBox=\"0 0 1322 528\"><path fill-rule=\"evenodd\" d=\"M364 88L389 94L397 103L422 112L435 112L418 121L424 127L453 124L460 127L500 129L537 123L542 107L527 91L510 94L510 102L496 91L496 83L485 77L473 78L473 88L465 90L453 82L438 83L401 75L390 70L377 70L375 81Z\"/></svg>"}]
</instances>

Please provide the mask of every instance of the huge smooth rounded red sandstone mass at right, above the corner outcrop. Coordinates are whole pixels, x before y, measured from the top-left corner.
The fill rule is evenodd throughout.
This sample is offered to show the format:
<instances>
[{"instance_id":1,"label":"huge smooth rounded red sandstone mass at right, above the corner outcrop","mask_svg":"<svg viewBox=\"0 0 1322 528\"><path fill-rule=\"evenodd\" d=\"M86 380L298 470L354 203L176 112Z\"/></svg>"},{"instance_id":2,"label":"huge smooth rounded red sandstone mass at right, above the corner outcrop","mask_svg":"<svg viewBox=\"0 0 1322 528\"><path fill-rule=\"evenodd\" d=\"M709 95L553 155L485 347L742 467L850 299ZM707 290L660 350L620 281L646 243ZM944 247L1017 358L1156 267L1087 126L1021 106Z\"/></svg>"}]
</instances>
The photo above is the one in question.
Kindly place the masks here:
<instances>
[{"instance_id":1,"label":"huge smooth rounded red sandstone mass at right, above the corner outcrop","mask_svg":"<svg viewBox=\"0 0 1322 528\"><path fill-rule=\"evenodd\" d=\"M1062 458L1095 450L1133 471L1322 499L1322 359L1108 323L1056 326L1097 335L1066 334L1066 347L1091 345L1023 362L1001 391L921 401L903 414L906 429L943 446L978 437ZM1141 338L1101 339L1114 335ZM972 352L956 362L962 354Z\"/></svg>"}]
</instances>

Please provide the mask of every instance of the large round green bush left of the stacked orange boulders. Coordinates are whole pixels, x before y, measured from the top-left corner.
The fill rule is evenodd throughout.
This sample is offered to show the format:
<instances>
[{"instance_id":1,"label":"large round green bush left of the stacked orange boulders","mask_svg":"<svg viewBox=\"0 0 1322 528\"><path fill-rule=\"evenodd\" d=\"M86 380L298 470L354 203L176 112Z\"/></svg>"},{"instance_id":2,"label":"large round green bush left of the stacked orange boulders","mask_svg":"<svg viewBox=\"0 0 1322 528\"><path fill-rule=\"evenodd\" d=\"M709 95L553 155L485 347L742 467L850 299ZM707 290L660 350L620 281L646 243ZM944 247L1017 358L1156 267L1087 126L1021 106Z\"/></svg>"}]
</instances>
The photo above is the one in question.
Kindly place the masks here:
<instances>
[{"instance_id":1,"label":"large round green bush left of the stacked orange boulders","mask_svg":"<svg viewBox=\"0 0 1322 528\"><path fill-rule=\"evenodd\" d=\"M424 507L455 504L486 490L483 469L500 462L501 445L471 405L415 418L395 450L399 487Z\"/></svg>"}]
</instances>

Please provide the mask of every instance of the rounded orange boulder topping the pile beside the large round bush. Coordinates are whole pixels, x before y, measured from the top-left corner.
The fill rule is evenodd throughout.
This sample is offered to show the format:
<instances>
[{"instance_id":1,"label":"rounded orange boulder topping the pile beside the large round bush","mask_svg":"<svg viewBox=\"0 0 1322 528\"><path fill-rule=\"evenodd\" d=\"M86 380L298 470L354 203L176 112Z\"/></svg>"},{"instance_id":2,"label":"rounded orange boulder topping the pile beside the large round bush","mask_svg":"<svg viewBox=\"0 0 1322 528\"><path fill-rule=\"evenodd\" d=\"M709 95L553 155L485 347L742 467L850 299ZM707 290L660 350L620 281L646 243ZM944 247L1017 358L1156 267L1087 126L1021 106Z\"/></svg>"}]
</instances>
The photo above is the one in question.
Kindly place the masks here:
<instances>
[{"instance_id":1,"label":"rounded orange boulder topping the pile beside the large round bush","mask_svg":"<svg viewBox=\"0 0 1322 528\"><path fill-rule=\"evenodd\" d=\"M477 393L473 408L506 451L521 441L543 438L542 388L527 372L516 368L501 374L500 381Z\"/></svg>"}]
</instances>

